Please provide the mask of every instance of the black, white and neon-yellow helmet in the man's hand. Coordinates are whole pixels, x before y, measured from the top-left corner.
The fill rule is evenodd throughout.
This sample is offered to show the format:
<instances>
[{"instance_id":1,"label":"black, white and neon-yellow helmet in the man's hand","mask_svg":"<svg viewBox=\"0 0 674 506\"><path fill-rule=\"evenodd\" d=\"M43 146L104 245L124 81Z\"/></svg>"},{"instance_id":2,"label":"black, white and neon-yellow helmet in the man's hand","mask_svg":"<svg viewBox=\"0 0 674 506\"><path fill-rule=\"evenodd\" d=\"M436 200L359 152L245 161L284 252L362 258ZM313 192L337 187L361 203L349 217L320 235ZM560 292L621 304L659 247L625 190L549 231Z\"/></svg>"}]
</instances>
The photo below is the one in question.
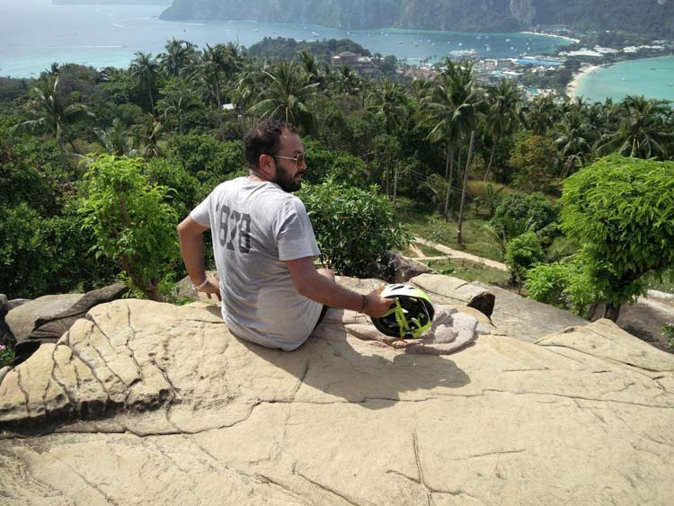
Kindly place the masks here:
<instances>
[{"instance_id":1,"label":"black, white and neon-yellow helmet in the man's hand","mask_svg":"<svg viewBox=\"0 0 674 506\"><path fill-rule=\"evenodd\" d=\"M410 285L386 285L381 296L395 299L395 305L380 318L372 318L380 333L400 339L419 339L430 328L435 313L430 298Z\"/></svg>"}]
</instances>

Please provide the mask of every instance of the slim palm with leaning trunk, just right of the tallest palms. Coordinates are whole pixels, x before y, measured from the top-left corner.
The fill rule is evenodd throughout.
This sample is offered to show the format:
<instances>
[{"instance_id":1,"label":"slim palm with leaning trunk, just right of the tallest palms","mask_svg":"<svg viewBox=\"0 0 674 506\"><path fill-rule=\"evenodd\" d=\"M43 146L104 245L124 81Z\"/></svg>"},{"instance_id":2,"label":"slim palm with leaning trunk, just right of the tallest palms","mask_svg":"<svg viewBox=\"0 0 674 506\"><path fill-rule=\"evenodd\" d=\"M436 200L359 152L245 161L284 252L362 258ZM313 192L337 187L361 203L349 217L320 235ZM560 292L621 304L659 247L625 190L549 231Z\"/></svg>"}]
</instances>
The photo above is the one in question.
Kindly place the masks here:
<instances>
[{"instance_id":1,"label":"slim palm with leaning trunk, just right of the tallest palms","mask_svg":"<svg viewBox=\"0 0 674 506\"><path fill-rule=\"evenodd\" d=\"M492 170L496 143L504 134L510 133L518 125L519 102L521 94L514 81L501 79L499 84L490 86L486 95L487 114L485 127L492 139L492 154L489 156L487 171L484 173L484 181L487 181L489 172Z\"/></svg>"}]
</instances>

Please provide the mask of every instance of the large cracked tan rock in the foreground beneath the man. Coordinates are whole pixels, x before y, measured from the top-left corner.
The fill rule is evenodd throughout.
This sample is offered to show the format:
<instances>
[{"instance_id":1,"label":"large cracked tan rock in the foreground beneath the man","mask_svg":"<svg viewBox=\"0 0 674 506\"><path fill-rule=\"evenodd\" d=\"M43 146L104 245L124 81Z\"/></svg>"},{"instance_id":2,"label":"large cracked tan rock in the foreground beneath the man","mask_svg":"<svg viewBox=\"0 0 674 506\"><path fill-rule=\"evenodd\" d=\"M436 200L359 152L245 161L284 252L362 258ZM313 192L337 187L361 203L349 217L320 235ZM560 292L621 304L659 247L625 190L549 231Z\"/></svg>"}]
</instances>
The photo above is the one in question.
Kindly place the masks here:
<instances>
[{"instance_id":1,"label":"large cracked tan rock in the foreground beneath the man","mask_svg":"<svg viewBox=\"0 0 674 506\"><path fill-rule=\"evenodd\" d=\"M607 321L410 355L358 321L284 353L216 306L94 307L0 385L3 504L670 504L670 355Z\"/></svg>"}]
</instances>

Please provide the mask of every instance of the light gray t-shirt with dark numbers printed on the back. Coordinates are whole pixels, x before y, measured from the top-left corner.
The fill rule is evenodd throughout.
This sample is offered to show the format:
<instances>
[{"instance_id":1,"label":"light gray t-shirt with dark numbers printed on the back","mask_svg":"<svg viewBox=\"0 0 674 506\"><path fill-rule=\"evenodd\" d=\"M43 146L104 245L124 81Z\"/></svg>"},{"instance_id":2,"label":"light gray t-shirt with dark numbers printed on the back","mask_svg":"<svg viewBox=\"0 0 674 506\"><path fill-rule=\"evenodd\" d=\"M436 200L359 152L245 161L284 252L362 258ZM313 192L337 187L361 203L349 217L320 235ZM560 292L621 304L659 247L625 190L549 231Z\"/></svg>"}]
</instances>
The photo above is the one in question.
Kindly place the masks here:
<instances>
[{"instance_id":1,"label":"light gray t-shirt with dark numbers printed on the back","mask_svg":"<svg viewBox=\"0 0 674 506\"><path fill-rule=\"evenodd\" d=\"M314 330L322 305L293 284L285 261L321 252L301 200L273 182L223 182L190 213L209 226L222 315L236 336L292 351Z\"/></svg>"}]
</instances>

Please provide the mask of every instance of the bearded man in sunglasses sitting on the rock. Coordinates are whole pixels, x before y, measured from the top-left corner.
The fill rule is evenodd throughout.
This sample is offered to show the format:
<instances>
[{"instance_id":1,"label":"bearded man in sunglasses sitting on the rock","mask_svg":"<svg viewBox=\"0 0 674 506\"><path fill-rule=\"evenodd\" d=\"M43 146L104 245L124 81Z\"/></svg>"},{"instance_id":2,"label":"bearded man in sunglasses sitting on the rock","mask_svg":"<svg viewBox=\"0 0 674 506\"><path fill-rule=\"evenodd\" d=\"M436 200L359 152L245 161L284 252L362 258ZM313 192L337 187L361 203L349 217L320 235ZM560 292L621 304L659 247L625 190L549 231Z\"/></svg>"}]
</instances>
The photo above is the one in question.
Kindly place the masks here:
<instances>
[{"instance_id":1,"label":"bearded man in sunglasses sitting on the rock","mask_svg":"<svg viewBox=\"0 0 674 506\"><path fill-rule=\"evenodd\" d=\"M247 177L223 182L178 226L182 259L194 288L216 294L237 337L284 351L297 349L328 306L379 317L391 306L378 290L367 296L316 270L320 254L306 209L290 192L306 171L297 129L263 120L245 137ZM211 230L219 287L203 267L201 234Z\"/></svg>"}]
</instances>

